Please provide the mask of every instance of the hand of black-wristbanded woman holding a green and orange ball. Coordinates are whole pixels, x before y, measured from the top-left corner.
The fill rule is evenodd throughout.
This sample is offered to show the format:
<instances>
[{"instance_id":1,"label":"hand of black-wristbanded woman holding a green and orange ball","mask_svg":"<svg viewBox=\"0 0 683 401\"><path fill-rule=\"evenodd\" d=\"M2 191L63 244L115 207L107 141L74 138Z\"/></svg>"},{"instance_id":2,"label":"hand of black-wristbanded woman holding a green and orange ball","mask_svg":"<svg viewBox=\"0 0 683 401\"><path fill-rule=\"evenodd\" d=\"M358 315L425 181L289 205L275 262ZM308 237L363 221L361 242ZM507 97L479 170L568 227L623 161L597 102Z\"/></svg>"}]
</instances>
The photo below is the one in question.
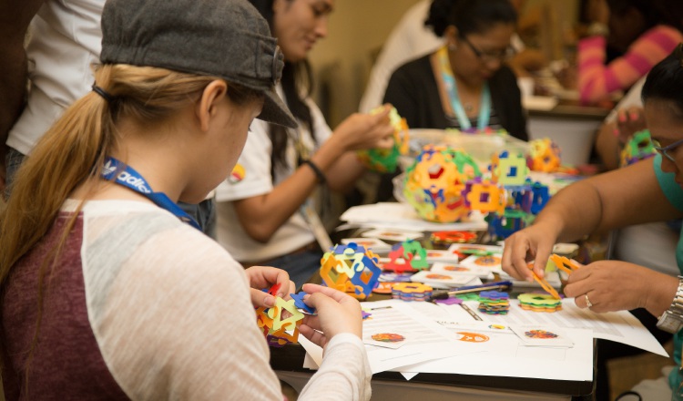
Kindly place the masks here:
<instances>
[{"instance_id":1,"label":"hand of black-wristbanded woman holding a green and orange ball","mask_svg":"<svg viewBox=\"0 0 683 401\"><path fill-rule=\"evenodd\" d=\"M346 150L390 149L393 127L389 120L390 105L376 114L353 113L334 129L332 138L341 140Z\"/></svg>"}]
</instances>

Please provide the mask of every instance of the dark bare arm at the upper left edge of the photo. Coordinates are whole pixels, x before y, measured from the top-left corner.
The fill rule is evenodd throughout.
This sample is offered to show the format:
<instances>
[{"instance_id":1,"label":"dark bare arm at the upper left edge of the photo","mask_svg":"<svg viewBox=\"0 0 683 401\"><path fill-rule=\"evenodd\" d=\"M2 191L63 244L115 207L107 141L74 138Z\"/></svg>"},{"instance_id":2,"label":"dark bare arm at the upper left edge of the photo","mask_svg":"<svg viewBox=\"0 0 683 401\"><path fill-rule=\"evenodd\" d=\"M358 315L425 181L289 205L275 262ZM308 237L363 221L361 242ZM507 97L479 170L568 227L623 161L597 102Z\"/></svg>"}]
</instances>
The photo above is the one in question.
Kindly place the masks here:
<instances>
[{"instance_id":1,"label":"dark bare arm at the upper left edge of the photo","mask_svg":"<svg viewBox=\"0 0 683 401\"><path fill-rule=\"evenodd\" d=\"M24 107L28 25L45 0L0 0L0 190L5 188L5 141Z\"/></svg>"}]
</instances>

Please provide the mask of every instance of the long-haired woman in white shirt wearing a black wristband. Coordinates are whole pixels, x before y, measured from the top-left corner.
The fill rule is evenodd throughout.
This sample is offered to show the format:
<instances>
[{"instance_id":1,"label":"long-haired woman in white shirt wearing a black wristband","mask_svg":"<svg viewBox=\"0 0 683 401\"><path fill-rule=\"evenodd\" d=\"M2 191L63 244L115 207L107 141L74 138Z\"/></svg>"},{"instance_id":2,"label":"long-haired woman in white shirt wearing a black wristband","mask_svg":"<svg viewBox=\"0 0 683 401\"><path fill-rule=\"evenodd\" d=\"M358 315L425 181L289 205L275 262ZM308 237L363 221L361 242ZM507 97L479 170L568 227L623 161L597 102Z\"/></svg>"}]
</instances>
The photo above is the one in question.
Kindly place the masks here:
<instances>
[{"instance_id":1,"label":"long-haired woman in white shirt wearing a black wristband","mask_svg":"<svg viewBox=\"0 0 683 401\"><path fill-rule=\"evenodd\" d=\"M218 239L245 265L267 264L297 285L320 268L324 231L309 200L320 185L349 190L364 168L357 149L388 148L388 108L354 114L332 131L309 97L306 56L327 36L333 0L250 0L285 57L278 92L299 122L284 129L255 121L232 180L217 190Z\"/></svg>"}]
</instances>

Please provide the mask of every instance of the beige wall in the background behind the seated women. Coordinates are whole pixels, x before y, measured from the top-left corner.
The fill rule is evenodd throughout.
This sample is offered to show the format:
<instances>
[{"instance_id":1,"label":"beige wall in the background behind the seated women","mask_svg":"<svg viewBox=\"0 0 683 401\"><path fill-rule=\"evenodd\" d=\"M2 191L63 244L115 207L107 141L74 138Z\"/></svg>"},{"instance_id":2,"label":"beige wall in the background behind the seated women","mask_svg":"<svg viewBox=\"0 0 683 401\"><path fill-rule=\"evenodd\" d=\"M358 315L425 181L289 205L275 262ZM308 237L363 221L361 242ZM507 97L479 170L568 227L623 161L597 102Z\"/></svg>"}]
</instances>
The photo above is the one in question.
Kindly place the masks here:
<instances>
[{"instance_id":1,"label":"beige wall in the background behind the seated women","mask_svg":"<svg viewBox=\"0 0 683 401\"><path fill-rule=\"evenodd\" d=\"M332 128L358 109L372 67L372 52L382 46L403 13L418 1L335 0L329 35L310 54L316 76L314 98ZM558 17L556 29L574 24L577 0L527 0L525 9L544 4L550 5ZM330 84L325 86L325 82ZM331 103L326 104L324 99Z\"/></svg>"}]
</instances>

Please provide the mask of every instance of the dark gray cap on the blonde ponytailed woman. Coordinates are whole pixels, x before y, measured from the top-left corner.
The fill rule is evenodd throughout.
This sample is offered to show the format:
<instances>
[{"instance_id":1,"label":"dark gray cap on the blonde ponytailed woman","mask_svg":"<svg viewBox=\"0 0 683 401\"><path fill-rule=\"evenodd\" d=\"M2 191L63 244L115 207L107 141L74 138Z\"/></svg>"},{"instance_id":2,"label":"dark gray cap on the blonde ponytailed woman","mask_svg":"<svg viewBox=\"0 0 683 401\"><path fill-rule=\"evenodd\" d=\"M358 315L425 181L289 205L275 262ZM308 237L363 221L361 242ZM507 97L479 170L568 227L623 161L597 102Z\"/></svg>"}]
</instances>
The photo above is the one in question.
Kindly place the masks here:
<instances>
[{"instance_id":1,"label":"dark gray cap on the blonde ponytailed woman","mask_svg":"<svg viewBox=\"0 0 683 401\"><path fill-rule=\"evenodd\" d=\"M260 119L297 126L275 92L277 39L246 0L107 0L100 60L222 77L265 95Z\"/></svg>"}]
</instances>

